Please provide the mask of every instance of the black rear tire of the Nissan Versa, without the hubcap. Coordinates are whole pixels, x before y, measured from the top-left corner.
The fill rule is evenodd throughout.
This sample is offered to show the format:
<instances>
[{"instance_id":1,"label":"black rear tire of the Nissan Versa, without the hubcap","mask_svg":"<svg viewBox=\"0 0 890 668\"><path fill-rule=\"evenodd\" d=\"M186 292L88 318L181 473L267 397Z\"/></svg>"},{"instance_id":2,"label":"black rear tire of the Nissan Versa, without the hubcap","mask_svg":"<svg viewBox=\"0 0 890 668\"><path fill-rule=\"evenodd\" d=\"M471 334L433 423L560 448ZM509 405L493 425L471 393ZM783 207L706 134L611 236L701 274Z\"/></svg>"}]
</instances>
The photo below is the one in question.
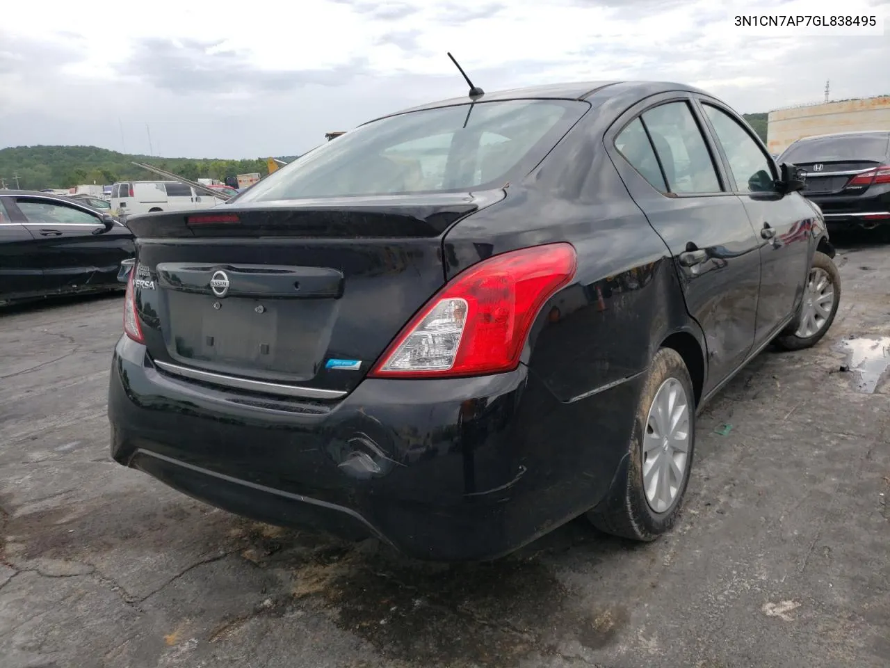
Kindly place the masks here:
<instances>
[{"instance_id":1,"label":"black rear tire of the Nissan Versa, without the hubcap","mask_svg":"<svg viewBox=\"0 0 890 668\"><path fill-rule=\"evenodd\" d=\"M689 415L689 444L683 471L683 482L678 486L676 497L662 512L651 508L643 489L643 436L647 431L649 411L659 387L669 379L676 379L686 395ZM695 452L695 393L692 379L683 357L672 348L661 348L649 367L649 372L636 408L634 431L628 444L627 467L622 468L619 478L612 486L608 499L587 513L587 517L597 529L629 538L634 541L654 541L659 535L669 531L683 505L686 487L689 485L689 472ZM625 474L626 471L626 474Z\"/></svg>"}]
</instances>

